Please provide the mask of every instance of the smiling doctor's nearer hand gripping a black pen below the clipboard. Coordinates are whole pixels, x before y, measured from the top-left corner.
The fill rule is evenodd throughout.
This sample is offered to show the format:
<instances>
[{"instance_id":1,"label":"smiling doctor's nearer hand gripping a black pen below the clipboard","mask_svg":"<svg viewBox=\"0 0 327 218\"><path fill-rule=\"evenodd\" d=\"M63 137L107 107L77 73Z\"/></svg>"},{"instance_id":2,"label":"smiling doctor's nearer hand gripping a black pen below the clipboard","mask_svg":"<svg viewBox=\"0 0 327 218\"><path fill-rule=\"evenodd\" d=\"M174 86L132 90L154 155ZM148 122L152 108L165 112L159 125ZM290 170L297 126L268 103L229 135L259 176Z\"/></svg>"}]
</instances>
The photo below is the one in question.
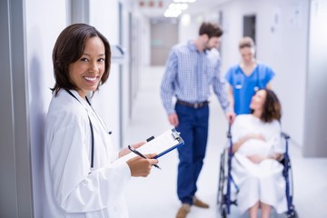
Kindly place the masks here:
<instances>
[{"instance_id":1,"label":"smiling doctor's nearer hand gripping a black pen below the clipboard","mask_svg":"<svg viewBox=\"0 0 327 218\"><path fill-rule=\"evenodd\" d=\"M152 165L158 163L158 160L152 159L156 156L156 154L145 154L145 156L147 159L136 156L126 162L131 170L132 176L146 177L151 173Z\"/></svg>"}]
</instances>

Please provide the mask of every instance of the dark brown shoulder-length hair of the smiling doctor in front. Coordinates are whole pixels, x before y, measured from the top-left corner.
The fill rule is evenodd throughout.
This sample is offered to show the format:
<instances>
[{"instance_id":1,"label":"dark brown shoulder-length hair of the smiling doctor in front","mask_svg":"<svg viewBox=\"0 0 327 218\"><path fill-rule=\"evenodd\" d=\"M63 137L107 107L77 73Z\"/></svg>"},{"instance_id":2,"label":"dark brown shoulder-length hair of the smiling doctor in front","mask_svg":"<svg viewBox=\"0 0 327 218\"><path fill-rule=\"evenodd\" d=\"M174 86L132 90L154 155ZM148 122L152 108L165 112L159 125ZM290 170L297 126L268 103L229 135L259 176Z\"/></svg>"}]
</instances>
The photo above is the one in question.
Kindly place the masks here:
<instances>
[{"instance_id":1,"label":"dark brown shoulder-length hair of the smiling doctor in front","mask_svg":"<svg viewBox=\"0 0 327 218\"><path fill-rule=\"evenodd\" d=\"M98 36L103 41L105 55L104 74L99 85L104 84L108 79L111 64L111 50L108 40L94 26L85 24L68 25L58 36L54 44L53 64L55 84L51 90L55 95L58 94L60 89L77 90L77 87L69 79L68 66L81 58L84 54L86 41L95 36Z\"/></svg>"}]
</instances>

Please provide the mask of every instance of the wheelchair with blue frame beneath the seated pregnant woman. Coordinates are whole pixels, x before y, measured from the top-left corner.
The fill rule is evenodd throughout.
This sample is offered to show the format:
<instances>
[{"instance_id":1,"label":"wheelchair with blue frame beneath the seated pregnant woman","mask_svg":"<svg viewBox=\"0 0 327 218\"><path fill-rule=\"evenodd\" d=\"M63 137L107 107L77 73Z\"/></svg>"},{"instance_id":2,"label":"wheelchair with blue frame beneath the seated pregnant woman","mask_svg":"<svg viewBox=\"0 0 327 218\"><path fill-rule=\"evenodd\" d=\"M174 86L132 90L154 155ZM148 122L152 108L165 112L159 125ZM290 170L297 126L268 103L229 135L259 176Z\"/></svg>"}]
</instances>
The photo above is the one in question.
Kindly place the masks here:
<instances>
[{"instance_id":1,"label":"wheelchair with blue frame beneath the seated pregnant woman","mask_svg":"<svg viewBox=\"0 0 327 218\"><path fill-rule=\"evenodd\" d=\"M228 148L223 149L221 154L220 162L220 173L218 182L218 194L217 194L217 204L218 210L222 218L231 217L231 206L237 206L236 197L232 199L232 194L237 194L239 192L239 187L233 181L232 176L232 158L233 158L233 142L231 134L231 124L228 127L227 132L228 138ZM283 154L283 159L280 161L283 165L282 175L285 179L285 194L287 201L287 218L298 218L298 214L295 211L295 207L292 204L293 200L293 184L292 184L292 165L288 154L288 145L290 140L290 135L282 133L282 138L285 142L285 154ZM232 190L233 189L233 190Z\"/></svg>"}]
</instances>

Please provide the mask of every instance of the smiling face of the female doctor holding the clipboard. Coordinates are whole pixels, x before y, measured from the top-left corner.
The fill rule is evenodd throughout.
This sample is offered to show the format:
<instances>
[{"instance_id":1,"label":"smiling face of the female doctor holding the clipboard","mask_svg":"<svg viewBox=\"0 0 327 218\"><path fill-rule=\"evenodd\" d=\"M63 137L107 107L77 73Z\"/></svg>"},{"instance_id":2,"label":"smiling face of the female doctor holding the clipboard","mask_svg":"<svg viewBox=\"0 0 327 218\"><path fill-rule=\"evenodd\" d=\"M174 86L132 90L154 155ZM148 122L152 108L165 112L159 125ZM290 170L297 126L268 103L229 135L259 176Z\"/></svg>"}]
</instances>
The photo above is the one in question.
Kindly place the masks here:
<instances>
[{"instance_id":1,"label":"smiling face of the female doctor holding the clipboard","mask_svg":"<svg viewBox=\"0 0 327 218\"><path fill-rule=\"evenodd\" d=\"M104 43L94 36L86 40L82 56L69 64L69 79L81 97L84 98L87 92L95 91L98 87L104 74L104 59Z\"/></svg>"}]
</instances>

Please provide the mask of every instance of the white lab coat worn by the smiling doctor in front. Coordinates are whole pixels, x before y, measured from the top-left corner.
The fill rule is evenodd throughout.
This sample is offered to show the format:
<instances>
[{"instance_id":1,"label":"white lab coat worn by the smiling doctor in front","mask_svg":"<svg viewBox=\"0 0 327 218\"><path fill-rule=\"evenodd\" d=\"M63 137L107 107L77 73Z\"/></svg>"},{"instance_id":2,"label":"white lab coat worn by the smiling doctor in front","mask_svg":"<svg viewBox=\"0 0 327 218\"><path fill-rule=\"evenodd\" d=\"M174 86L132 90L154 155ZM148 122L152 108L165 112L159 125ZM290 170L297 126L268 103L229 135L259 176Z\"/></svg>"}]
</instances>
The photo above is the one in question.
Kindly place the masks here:
<instances>
[{"instance_id":1,"label":"white lab coat worn by the smiling doctor in front","mask_svg":"<svg viewBox=\"0 0 327 218\"><path fill-rule=\"evenodd\" d=\"M60 90L53 96L45 125L44 217L128 217L124 187L131 179L127 163L118 157L110 135L92 107L77 94ZM91 129L94 128L94 171Z\"/></svg>"}]
</instances>

